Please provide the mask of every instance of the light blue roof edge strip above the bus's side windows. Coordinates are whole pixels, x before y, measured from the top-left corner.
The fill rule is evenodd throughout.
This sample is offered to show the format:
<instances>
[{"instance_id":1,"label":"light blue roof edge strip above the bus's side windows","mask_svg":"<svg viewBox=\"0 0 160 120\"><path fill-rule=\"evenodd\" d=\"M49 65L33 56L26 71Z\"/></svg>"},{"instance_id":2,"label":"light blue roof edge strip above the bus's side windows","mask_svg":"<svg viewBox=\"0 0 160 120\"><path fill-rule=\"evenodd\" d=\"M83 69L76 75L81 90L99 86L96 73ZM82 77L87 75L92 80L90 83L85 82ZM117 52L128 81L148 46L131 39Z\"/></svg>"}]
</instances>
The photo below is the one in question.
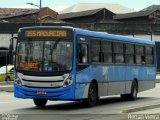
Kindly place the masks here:
<instances>
[{"instance_id":1,"label":"light blue roof edge strip above the bus's side windows","mask_svg":"<svg viewBox=\"0 0 160 120\"><path fill-rule=\"evenodd\" d=\"M75 28L75 32L76 34L87 35L87 36L92 36L97 38L104 38L104 39L106 38L106 39L117 40L117 41L155 45L155 42L151 40L132 38L132 37L127 37L122 35L115 35L115 34L108 34L104 32L95 32L95 31L89 31L89 30L84 30L79 28Z\"/></svg>"}]
</instances>

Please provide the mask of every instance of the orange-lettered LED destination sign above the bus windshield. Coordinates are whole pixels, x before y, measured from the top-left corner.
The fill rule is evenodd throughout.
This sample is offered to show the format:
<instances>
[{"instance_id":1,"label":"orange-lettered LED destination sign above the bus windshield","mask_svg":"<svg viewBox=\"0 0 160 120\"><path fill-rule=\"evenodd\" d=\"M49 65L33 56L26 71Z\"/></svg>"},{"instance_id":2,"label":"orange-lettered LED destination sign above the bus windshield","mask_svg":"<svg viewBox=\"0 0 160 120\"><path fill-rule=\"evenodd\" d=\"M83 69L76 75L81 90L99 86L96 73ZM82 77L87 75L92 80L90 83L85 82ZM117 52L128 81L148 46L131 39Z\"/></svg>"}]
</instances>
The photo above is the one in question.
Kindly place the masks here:
<instances>
[{"instance_id":1,"label":"orange-lettered LED destination sign above the bus windshield","mask_svg":"<svg viewBox=\"0 0 160 120\"><path fill-rule=\"evenodd\" d=\"M26 37L67 37L65 30L28 30Z\"/></svg>"}]
</instances>

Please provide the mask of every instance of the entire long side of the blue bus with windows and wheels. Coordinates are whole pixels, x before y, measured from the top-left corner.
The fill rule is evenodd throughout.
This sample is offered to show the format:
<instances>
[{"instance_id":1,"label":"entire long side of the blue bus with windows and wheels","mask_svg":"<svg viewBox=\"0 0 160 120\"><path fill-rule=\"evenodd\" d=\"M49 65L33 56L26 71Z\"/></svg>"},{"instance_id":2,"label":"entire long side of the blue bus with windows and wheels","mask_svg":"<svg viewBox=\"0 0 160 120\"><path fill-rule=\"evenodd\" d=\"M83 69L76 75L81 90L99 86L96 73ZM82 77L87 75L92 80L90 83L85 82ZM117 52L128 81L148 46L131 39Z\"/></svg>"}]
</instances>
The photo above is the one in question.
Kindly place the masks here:
<instances>
[{"instance_id":1,"label":"entire long side of the blue bus with windows and wheels","mask_svg":"<svg viewBox=\"0 0 160 120\"><path fill-rule=\"evenodd\" d=\"M155 43L137 38L77 30L76 99L94 106L101 96L137 93L155 87Z\"/></svg>"}]
</instances>

